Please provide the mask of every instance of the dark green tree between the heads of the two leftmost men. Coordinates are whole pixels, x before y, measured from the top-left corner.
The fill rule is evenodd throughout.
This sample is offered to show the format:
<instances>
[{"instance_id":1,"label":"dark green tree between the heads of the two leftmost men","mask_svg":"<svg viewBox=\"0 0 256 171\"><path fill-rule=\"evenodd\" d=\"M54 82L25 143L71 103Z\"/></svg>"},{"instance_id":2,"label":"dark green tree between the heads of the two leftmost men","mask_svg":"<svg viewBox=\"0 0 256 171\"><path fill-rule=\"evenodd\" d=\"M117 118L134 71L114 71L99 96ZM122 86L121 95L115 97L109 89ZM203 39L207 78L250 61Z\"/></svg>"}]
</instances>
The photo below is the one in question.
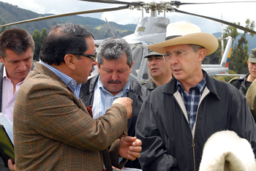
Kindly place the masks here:
<instances>
[{"instance_id":1,"label":"dark green tree between the heads of the two leftmost men","mask_svg":"<svg viewBox=\"0 0 256 171\"><path fill-rule=\"evenodd\" d=\"M46 28L42 28L42 34L40 33L39 30L34 31L34 33L32 34L32 37L34 39L34 45L35 45L33 60L35 61L39 61L39 53L42 47L42 42L46 36L47 36Z\"/></svg>"}]
</instances>

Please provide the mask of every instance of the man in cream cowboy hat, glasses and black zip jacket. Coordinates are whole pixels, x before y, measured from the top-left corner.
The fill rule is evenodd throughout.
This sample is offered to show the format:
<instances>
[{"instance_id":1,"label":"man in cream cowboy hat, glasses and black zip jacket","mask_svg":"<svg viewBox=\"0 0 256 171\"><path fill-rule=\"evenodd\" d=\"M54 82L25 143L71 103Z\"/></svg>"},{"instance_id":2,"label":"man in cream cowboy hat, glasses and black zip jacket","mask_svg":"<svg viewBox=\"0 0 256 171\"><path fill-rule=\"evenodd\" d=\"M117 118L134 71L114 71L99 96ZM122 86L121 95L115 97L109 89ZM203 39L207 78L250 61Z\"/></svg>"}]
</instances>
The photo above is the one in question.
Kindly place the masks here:
<instances>
[{"instance_id":1,"label":"man in cream cowboy hat, glasses and black zip jacket","mask_svg":"<svg viewBox=\"0 0 256 171\"><path fill-rule=\"evenodd\" d=\"M166 41L148 45L166 54L173 79L147 96L138 115L143 171L199 170L206 140L222 130L248 140L256 153L256 125L245 96L201 69L217 47L213 35L184 21L167 26Z\"/></svg>"}]
</instances>

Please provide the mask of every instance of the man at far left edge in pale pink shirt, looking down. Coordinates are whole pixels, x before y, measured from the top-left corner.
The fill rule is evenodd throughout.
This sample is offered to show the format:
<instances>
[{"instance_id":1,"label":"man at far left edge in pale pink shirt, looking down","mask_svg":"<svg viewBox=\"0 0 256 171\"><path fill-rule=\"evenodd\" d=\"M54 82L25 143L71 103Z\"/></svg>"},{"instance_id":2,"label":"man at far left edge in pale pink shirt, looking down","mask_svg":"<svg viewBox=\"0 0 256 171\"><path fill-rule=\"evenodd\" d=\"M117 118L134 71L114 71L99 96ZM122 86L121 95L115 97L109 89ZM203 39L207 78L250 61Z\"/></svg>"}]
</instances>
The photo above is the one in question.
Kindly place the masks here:
<instances>
[{"instance_id":1,"label":"man at far left edge in pale pink shirt, looking down","mask_svg":"<svg viewBox=\"0 0 256 171\"><path fill-rule=\"evenodd\" d=\"M33 54L34 40L26 30L11 28L0 34L0 110L11 122L16 95L31 71ZM11 160L9 167L15 167ZM7 161L0 161L0 170L9 170Z\"/></svg>"}]
</instances>

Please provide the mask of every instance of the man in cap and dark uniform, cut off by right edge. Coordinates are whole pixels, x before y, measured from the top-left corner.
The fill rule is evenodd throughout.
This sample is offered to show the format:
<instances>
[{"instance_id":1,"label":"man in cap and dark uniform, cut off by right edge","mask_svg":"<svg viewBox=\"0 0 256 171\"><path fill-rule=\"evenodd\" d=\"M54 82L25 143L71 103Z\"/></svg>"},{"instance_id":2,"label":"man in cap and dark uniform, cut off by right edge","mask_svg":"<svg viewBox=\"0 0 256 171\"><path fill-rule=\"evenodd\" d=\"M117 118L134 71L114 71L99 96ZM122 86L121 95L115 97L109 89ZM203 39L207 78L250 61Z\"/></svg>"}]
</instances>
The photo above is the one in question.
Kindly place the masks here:
<instances>
[{"instance_id":1,"label":"man in cap and dark uniform, cut off by right edge","mask_svg":"<svg viewBox=\"0 0 256 171\"><path fill-rule=\"evenodd\" d=\"M247 64L249 72L246 75L234 77L230 80L230 84L238 88L244 96L246 95L249 86L252 84L252 81L256 78L256 48L251 50Z\"/></svg>"}]
</instances>

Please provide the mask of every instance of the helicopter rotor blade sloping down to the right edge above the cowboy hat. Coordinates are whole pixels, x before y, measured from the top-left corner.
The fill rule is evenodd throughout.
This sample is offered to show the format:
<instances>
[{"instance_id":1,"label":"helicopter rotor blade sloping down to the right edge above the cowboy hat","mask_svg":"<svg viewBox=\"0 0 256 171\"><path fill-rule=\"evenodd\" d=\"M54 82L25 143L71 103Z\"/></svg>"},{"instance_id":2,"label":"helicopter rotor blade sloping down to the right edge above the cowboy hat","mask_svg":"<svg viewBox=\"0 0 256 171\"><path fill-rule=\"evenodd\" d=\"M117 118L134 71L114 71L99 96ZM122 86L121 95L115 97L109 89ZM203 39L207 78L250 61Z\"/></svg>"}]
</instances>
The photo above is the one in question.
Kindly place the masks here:
<instances>
[{"instance_id":1,"label":"helicopter rotor blade sloping down to the right edge above the cowboy hat","mask_svg":"<svg viewBox=\"0 0 256 171\"><path fill-rule=\"evenodd\" d=\"M233 26L233 27L235 27L235 28L238 28L238 29L241 29L241 30L243 30L243 31L249 32L249 33L251 33L251 34L256 34L255 31L252 31L252 30L250 30L249 28L245 28L245 27L243 27L243 26L239 26L239 25L236 25L236 24L234 24L234 23L227 22L227 21L225 21L225 20L219 20L219 19L217 19L217 18L210 18L210 17L206 17L206 16L204 16L204 15L196 15L196 14L192 14L192 13L189 13L189 12L184 12L184 11L178 10L178 9L176 9L176 8L167 9L167 10L169 10L170 12L179 12L179 13L182 13L182 14L195 15L195 16L200 17L200 18L206 18L206 19L209 19L209 20L214 20L214 21L217 21L217 22L219 22L219 23L224 23L224 24L227 24L227 25L229 25L229 26Z\"/></svg>"}]
</instances>

